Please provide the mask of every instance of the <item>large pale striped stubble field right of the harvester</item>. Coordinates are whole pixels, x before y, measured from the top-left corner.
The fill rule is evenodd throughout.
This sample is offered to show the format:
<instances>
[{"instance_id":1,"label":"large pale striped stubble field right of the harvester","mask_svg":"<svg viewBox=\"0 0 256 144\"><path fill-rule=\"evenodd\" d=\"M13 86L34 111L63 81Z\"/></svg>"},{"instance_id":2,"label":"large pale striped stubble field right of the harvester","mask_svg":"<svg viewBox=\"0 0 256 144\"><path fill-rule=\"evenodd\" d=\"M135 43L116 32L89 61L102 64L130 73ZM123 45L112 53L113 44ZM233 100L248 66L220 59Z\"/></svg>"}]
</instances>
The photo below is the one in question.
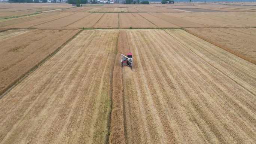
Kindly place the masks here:
<instances>
[{"instance_id":1,"label":"large pale striped stubble field right of the harvester","mask_svg":"<svg viewBox=\"0 0 256 144\"><path fill-rule=\"evenodd\" d=\"M254 64L183 30L126 32L128 144L256 142Z\"/></svg>"}]
</instances>

